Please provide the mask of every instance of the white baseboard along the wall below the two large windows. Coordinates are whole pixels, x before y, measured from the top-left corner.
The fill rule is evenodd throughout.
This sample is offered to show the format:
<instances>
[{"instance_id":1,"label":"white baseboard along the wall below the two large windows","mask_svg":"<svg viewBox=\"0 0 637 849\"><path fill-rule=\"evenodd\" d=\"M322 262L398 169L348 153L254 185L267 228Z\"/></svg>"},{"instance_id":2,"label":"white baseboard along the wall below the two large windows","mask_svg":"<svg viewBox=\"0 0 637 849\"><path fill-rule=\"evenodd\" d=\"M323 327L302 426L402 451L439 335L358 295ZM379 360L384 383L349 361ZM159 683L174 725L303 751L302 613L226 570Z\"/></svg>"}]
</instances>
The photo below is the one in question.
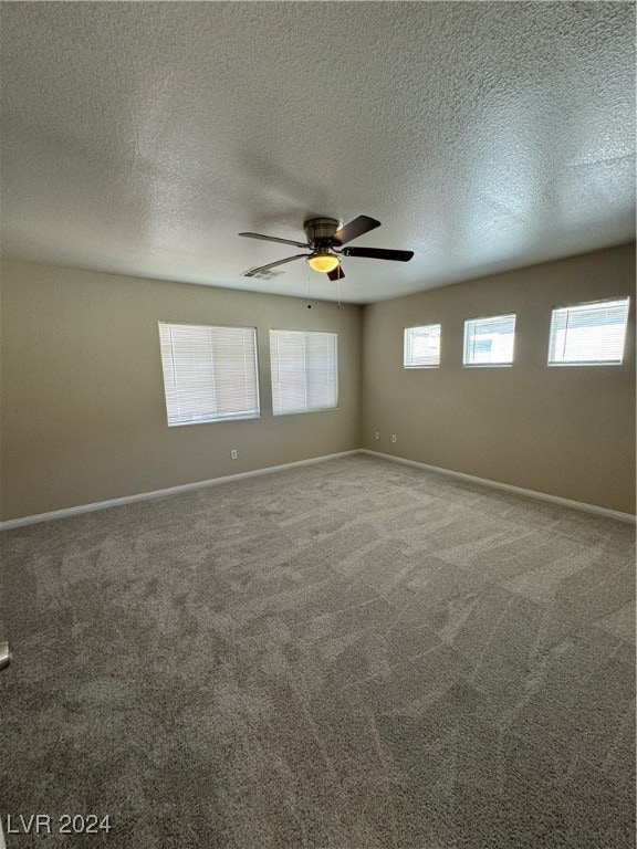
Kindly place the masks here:
<instances>
[{"instance_id":1,"label":"white baseboard along the wall below the two large windows","mask_svg":"<svg viewBox=\"0 0 637 849\"><path fill-rule=\"evenodd\" d=\"M80 513L93 513L96 510L107 510L123 504L134 504L137 501L148 501L149 499L163 499L167 495L178 495L181 492L191 490L201 490L207 486L217 486L231 481L240 481L243 478L254 478L258 474L272 474L272 472L283 472L286 469L294 469L297 465L312 465L314 463L324 463L327 460L337 460L342 457L361 453L359 449L352 451L341 451L337 454L324 454L323 457L312 457L309 460L296 460L292 463L282 465L269 465L265 469L254 469L250 472L239 472L238 474L227 474L222 478L211 478L207 481L196 481L195 483L185 483L180 486L169 486L167 490L154 490L153 492L140 492L137 495L124 495L121 499L108 499L107 501L96 501L93 504L80 504L76 507L65 507L64 510L53 510L50 513L39 513L35 516L22 516L21 518L9 518L0 522L0 531L8 531L11 527L22 527L23 525L35 525L38 522L50 522L53 518L67 518L76 516Z\"/></svg>"}]
</instances>

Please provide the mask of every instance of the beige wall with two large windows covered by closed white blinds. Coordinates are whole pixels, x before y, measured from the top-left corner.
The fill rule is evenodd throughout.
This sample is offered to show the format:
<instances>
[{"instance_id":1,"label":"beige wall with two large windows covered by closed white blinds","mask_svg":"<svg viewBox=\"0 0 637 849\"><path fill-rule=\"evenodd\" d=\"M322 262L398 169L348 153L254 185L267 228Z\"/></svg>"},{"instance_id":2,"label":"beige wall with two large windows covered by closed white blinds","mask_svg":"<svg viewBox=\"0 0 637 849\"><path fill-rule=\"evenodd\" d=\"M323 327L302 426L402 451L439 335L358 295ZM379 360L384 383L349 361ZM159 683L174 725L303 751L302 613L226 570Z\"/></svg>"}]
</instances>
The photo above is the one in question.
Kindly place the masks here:
<instances>
[{"instance_id":1,"label":"beige wall with two large windows covered by closed white blinds","mask_svg":"<svg viewBox=\"0 0 637 849\"><path fill-rule=\"evenodd\" d=\"M359 447L358 306L18 262L1 271L2 520ZM257 326L261 418L168 428L159 319ZM338 333L338 409L272 417L270 327Z\"/></svg>"}]
</instances>

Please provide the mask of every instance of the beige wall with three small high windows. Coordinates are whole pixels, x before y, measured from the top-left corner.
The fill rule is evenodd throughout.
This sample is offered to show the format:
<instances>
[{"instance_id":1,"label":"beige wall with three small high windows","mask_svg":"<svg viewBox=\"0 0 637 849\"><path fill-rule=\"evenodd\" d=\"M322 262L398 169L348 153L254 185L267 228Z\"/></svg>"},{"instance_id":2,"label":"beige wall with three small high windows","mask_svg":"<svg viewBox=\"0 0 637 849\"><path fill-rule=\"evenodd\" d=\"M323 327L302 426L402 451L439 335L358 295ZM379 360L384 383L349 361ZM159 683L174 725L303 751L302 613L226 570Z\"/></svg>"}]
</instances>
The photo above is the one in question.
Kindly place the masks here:
<instances>
[{"instance_id":1,"label":"beige wall with three small high windows","mask_svg":"<svg viewBox=\"0 0 637 849\"><path fill-rule=\"evenodd\" d=\"M554 306L634 291L633 244L366 307L364 447L634 513L635 300L624 365L546 366ZM464 319L499 313L513 366L462 368ZM404 369L404 328L438 322L440 368Z\"/></svg>"}]
</instances>

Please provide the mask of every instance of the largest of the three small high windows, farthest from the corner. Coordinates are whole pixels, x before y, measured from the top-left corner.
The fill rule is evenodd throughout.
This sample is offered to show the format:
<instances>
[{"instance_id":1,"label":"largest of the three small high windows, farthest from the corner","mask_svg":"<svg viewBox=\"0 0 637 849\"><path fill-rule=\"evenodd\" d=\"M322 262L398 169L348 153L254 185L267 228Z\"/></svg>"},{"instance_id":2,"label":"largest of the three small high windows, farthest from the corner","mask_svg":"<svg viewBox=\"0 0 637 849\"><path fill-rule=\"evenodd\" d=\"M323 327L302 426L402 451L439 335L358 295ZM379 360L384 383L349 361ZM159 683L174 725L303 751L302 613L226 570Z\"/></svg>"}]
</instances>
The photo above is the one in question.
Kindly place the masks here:
<instances>
[{"instance_id":1,"label":"largest of the three small high windows, farthest from the corner","mask_svg":"<svg viewBox=\"0 0 637 849\"><path fill-rule=\"evenodd\" d=\"M550 366L619 365L624 357L628 297L553 310Z\"/></svg>"}]
</instances>

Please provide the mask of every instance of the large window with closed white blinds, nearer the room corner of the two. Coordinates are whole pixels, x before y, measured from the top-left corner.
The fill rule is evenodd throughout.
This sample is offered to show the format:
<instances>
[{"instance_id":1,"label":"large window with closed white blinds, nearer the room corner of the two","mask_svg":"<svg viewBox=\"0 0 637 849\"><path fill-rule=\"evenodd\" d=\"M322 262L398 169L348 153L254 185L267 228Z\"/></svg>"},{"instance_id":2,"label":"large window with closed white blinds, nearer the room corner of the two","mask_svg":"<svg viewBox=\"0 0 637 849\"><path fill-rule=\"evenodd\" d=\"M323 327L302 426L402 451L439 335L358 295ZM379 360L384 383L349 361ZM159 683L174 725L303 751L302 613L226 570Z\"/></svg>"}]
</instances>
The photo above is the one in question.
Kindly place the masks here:
<instances>
[{"instance_id":1,"label":"large window with closed white blinds, nearer the room corner of the two","mask_svg":"<svg viewBox=\"0 0 637 849\"><path fill-rule=\"evenodd\" d=\"M338 405L336 334L270 331L274 416Z\"/></svg>"}]
</instances>

